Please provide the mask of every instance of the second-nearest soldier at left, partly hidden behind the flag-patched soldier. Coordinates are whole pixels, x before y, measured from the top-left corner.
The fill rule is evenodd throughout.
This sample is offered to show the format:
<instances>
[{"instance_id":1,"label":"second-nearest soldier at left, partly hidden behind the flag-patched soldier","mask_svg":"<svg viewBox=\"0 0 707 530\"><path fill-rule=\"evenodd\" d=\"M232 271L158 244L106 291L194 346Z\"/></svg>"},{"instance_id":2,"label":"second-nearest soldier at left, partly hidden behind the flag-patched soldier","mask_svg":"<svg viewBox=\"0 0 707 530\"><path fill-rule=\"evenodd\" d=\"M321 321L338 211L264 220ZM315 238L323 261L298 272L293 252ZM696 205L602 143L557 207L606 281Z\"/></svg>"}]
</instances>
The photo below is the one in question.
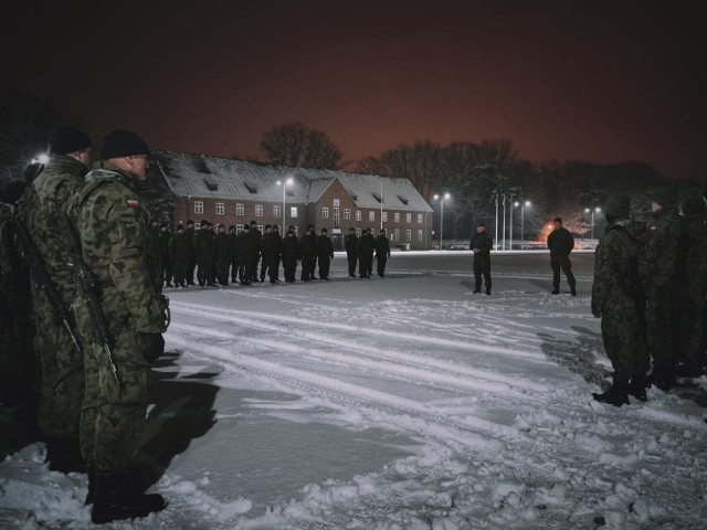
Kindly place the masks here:
<instances>
[{"instance_id":1,"label":"second-nearest soldier at left, partly hidden behind the flag-patched soldier","mask_svg":"<svg viewBox=\"0 0 707 530\"><path fill-rule=\"evenodd\" d=\"M60 311L68 311L76 287L66 265L70 259L59 223L88 172L91 140L81 130L65 125L52 132L49 144L49 162L24 192L18 221L41 254L63 305ZM34 352L42 373L38 423L46 439L49 467L64 473L83 470L78 448L83 353L63 322L54 317L56 308L36 282L32 282L31 293Z\"/></svg>"}]
</instances>

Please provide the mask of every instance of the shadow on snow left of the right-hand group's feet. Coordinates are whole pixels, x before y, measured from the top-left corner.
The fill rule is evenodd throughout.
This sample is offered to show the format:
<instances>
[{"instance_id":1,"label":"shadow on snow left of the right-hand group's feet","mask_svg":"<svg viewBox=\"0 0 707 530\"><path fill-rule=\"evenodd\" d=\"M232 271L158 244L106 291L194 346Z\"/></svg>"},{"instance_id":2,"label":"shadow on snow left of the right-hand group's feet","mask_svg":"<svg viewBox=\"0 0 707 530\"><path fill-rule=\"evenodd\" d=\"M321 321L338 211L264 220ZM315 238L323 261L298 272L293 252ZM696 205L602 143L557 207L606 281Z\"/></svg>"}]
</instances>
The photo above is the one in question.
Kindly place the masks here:
<instances>
[{"instance_id":1,"label":"shadow on snow left of the right-hand group's feet","mask_svg":"<svg viewBox=\"0 0 707 530\"><path fill-rule=\"evenodd\" d=\"M611 375L611 370L597 362L597 351L603 351L604 346L601 333L591 329L573 326L577 331L577 341L556 339L548 333L538 333L542 340L540 348L548 359L577 373L588 383L602 386L602 383Z\"/></svg>"}]
</instances>

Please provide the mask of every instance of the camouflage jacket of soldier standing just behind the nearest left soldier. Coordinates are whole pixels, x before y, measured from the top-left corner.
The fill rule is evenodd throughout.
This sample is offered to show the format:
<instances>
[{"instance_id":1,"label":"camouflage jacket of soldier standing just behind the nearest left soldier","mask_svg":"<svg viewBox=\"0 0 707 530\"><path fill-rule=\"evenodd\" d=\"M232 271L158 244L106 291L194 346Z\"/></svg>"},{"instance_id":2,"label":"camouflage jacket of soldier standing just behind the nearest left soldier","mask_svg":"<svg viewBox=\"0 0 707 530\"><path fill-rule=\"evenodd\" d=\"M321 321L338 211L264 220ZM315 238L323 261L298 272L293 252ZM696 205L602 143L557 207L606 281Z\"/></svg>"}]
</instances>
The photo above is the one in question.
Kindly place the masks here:
<instances>
[{"instance_id":1,"label":"camouflage jacket of soldier standing just behind the nearest left soldier","mask_svg":"<svg viewBox=\"0 0 707 530\"><path fill-rule=\"evenodd\" d=\"M59 221L87 172L88 168L78 160L52 155L44 170L25 190L18 211L19 220L44 258L56 287L71 297L75 288L66 266L68 251Z\"/></svg>"}]
</instances>

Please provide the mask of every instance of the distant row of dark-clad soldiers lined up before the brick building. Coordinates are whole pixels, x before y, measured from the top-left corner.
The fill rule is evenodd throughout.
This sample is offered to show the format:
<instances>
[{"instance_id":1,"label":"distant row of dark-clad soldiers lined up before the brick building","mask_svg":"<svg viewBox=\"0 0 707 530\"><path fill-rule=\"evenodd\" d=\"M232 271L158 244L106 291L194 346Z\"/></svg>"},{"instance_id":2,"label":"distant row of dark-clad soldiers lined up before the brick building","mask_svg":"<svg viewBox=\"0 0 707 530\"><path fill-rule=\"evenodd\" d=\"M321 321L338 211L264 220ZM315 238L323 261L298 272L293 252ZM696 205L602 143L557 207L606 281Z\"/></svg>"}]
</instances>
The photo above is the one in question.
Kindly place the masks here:
<instances>
[{"instance_id":1,"label":"distant row of dark-clad soldiers lined up before the brick building","mask_svg":"<svg viewBox=\"0 0 707 530\"><path fill-rule=\"evenodd\" d=\"M252 285L268 278L271 284L281 283L282 264L284 280L294 283L297 265L302 265L302 282L329 279L329 268L334 258L334 244L327 229L316 234L314 225L297 237L294 226L289 226L285 237L279 226L265 225L261 234L255 221L244 225L236 233L234 225L219 224L202 220L196 230L192 220L187 226L180 222L176 232L169 231L167 223L152 223L151 236L159 245L161 267L166 287L187 287L194 284L194 273L200 286L226 286L229 284ZM363 230L360 237L350 229L345 239L349 265L349 276L356 277L359 267L361 278L370 278L372 264L378 262L378 274L384 276L386 263L390 257L390 243L384 229L373 239L371 229ZM260 264L260 275L257 267ZM319 267L318 278L315 275Z\"/></svg>"}]
</instances>

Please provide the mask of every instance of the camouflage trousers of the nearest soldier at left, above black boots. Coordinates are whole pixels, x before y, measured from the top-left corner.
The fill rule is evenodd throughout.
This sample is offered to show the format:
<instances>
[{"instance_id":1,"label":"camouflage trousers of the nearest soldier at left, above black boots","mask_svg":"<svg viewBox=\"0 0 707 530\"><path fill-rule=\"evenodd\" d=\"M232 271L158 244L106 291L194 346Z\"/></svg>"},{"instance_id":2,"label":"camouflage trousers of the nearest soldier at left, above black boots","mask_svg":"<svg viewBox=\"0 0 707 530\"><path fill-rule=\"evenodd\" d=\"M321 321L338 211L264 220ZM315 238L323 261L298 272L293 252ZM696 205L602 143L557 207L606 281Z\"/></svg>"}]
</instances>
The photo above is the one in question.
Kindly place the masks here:
<instances>
[{"instance_id":1,"label":"camouflage trousers of the nearest soldier at left, above black boots","mask_svg":"<svg viewBox=\"0 0 707 530\"><path fill-rule=\"evenodd\" d=\"M140 443L151 392L146 343L134 330L118 336L112 358L102 346L85 349L86 393L81 418L81 453L98 470L129 470Z\"/></svg>"}]
</instances>

